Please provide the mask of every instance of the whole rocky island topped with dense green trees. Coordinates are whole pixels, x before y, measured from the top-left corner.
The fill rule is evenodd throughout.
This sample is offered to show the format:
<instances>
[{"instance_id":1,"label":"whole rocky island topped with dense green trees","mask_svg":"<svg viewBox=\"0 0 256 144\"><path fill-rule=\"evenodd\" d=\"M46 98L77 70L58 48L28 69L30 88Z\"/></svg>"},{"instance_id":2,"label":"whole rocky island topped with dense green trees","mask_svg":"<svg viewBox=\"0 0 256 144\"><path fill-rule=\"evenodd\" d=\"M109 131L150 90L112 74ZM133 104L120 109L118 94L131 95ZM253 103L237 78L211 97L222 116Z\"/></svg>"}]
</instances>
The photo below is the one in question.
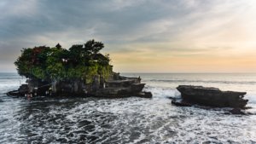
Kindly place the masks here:
<instances>
[{"instance_id":1,"label":"whole rocky island topped with dense green trees","mask_svg":"<svg viewBox=\"0 0 256 144\"><path fill-rule=\"evenodd\" d=\"M84 44L63 49L39 46L21 50L15 61L20 76L26 83L12 96L98 96L98 97L152 97L143 92L141 78L127 78L113 72L109 55L102 55L102 42L90 40Z\"/></svg>"}]
</instances>

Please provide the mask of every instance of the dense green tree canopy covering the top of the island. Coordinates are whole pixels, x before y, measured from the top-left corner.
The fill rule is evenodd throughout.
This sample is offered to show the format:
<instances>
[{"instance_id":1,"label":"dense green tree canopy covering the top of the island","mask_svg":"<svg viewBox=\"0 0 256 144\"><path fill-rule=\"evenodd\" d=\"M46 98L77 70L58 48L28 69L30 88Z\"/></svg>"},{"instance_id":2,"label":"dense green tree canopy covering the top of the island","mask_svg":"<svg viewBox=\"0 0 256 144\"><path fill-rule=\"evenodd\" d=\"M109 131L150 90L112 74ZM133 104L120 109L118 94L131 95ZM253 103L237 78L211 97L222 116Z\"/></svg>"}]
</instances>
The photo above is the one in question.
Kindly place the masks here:
<instances>
[{"instance_id":1,"label":"dense green tree canopy covering the top of the island","mask_svg":"<svg viewBox=\"0 0 256 144\"><path fill-rule=\"evenodd\" d=\"M53 48L26 48L21 50L15 66L20 76L26 78L46 81L80 78L90 82L94 75L108 78L112 72L109 55L100 53L103 48L104 44L94 39L70 49L63 49L59 43Z\"/></svg>"}]
</instances>

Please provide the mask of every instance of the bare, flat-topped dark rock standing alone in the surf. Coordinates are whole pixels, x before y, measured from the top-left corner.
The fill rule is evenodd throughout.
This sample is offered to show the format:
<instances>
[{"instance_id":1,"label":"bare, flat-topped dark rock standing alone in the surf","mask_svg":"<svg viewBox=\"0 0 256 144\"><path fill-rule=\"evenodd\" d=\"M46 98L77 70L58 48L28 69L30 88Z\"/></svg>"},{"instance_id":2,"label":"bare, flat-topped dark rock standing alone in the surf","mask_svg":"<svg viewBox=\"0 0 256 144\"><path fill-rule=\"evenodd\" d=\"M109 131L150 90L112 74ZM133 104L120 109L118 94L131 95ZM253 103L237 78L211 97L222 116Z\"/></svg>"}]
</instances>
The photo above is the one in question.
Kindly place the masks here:
<instances>
[{"instance_id":1,"label":"bare, flat-topped dark rock standing alone in the surf","mask_svg":"<svg viewBox=\"0 0 256 144\"><path fill-rule=\"evenodd\" d=\"M193 104L207 107L246 108L247 101L243 97L246 92L221 91L218 88L207 88L193 85L179 85L182 101L172 101L174 105L190 106Z\"/></svg>"}]
</instances>

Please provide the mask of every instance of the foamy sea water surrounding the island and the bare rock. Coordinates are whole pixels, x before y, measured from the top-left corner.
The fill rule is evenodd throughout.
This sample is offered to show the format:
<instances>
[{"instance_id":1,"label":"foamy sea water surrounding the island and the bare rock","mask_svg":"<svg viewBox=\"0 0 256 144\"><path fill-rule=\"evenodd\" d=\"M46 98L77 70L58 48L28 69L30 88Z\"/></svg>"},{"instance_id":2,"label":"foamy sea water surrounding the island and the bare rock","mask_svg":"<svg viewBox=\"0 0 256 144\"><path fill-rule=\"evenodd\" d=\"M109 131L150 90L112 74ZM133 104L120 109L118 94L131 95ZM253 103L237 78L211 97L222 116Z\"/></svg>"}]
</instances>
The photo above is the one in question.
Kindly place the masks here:
<instances>
[{"instance_id":1,"label":"foamy sea water surrounding the island and the bare rock","mask_svg":"<svg viewBox=\"0 0 256 144\"><path fill-rule=\"evenodd\" d=\"M256 74L131 74L152 99L10 98L26 79L0 73L0 143L256 143L256 115L172 106L179 84L246 91L256 113Z\"/></svg>"}]
</instances>

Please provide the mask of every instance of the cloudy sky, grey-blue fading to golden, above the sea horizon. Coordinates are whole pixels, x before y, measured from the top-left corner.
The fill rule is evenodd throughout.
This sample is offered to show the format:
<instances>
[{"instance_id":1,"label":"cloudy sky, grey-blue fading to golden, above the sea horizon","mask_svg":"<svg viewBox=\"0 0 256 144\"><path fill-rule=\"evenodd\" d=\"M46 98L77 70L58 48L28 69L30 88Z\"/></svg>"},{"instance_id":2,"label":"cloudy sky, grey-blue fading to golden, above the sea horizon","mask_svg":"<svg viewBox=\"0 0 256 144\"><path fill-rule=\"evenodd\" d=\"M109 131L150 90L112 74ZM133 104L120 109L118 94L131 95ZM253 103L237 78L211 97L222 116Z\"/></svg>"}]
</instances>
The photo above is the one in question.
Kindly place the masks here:
<instances>
[{"instance_id":1,"label":"cloudy sky, grey-blue fading to golden, above the sea horizon","mask_svg":"<svg viewBox=\"0 0 256 144\"><path fill-rule=\"evenodd\" d=\"M115 72L256 72L255 0L1 0L0 72L90 39Z\"/></svg>"}]
</instances>

